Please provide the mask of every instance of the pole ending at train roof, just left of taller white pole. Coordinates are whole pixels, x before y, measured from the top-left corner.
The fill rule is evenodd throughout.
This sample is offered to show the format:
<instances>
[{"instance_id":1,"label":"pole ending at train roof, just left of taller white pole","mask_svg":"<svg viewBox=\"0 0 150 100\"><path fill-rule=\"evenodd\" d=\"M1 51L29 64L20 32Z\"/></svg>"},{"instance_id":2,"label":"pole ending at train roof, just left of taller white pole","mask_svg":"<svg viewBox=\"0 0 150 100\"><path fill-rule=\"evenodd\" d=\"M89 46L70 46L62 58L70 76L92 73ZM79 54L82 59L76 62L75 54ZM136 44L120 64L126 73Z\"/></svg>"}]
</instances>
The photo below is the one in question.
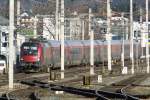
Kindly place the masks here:
<instances>
[{"instance_id":1,"label":"pole ending at train roof, just left of taller white pole","mask_svg":"<svg viewBox=\"0 0 150 100\"><path fill-rule=\"evenodd\" d=\"M58 40L58 35L59 35L59 33L58 33L58 16L59 16L59 0L56 0L56 14L55 14L55 21L56 21L56 26L55 26L55 28L56 28L56 40Z\"/></svg>"}]
</instances>

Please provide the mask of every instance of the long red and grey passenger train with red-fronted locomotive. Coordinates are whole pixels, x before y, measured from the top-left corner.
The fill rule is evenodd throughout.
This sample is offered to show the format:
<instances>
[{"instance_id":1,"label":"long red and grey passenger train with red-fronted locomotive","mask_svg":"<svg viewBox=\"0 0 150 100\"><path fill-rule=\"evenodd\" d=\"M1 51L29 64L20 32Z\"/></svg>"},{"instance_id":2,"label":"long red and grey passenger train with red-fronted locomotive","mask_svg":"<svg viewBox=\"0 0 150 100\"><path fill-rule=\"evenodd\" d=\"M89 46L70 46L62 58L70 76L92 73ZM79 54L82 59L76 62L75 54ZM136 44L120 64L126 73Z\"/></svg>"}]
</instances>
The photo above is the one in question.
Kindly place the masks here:
<instances>
[{"instance_id":1,"label":"long red and grey passenger train with red-fronted locomotive","mask_svg":"<svg viewBox=\"0 0 150 100\"><path fill-rule=\"evenodd\" d=\"M65 42L65 66L90 63L90 40L66 40ZM138 57L141 56L140 43L138 45ZM130 43L124 41L125 59L130 57ZM135 47L134 47L135 48ZM134 49L134 53L136 49ZM122 41L111 41L112 59L121 59ZM40 69L47 66L60 67L60 41L30 41L21 46L20 63L25 69ZM136 55L136 54L134 54ZM137 57L137 55L136 55ZM95 63L107 62L107 41L94 40Z\"/></svg>"}]
</instances>

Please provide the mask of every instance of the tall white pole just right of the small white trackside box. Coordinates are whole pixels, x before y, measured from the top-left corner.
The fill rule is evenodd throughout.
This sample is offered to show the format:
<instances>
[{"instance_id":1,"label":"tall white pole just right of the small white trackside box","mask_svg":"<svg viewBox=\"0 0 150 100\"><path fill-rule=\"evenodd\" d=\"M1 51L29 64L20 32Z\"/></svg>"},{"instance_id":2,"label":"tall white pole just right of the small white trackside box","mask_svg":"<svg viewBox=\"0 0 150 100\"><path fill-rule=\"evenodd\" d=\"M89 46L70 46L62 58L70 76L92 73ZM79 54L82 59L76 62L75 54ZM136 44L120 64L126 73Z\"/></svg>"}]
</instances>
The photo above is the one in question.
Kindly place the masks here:
<instances>
[{"instance_id":1,"label":"tall white pole just right of the small white trackside box","mask_svg":"<svg viewBox=\"0 0 150 100\"><path fill-rule=\"evenodd\" d=\"M130 0L130 59L132 62L131 73L134 74L134 55L133 55L133 0Z\"/></svg>"}]
</instances>

